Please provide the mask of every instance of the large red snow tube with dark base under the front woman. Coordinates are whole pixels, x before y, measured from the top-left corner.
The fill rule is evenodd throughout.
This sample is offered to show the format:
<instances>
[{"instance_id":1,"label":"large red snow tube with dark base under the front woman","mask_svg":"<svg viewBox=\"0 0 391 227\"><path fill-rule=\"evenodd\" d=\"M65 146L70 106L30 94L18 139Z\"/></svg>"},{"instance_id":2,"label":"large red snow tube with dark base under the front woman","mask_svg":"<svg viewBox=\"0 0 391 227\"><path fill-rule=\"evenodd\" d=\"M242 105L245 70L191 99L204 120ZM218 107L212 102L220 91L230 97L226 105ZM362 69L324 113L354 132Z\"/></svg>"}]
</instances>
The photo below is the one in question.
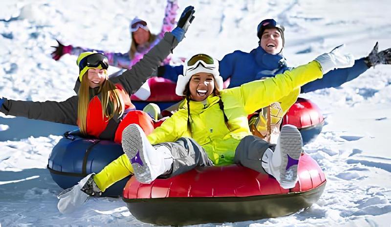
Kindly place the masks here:
<instances>
[{"instance_id":1,"label":"large red snow tube with dark base under the front woman","mask_svg":"<svg viewBox=\"0 0 391 227\"><path fill-rule=\"evenodd\" d=\"M283 189L270 175L239 165L197 167L150 184L134 177L123 200L138 220L154 225L239 222L289 215L315 203L326 185L322 169L303 154L299 181Z\"/></svg>"}]
</instances>

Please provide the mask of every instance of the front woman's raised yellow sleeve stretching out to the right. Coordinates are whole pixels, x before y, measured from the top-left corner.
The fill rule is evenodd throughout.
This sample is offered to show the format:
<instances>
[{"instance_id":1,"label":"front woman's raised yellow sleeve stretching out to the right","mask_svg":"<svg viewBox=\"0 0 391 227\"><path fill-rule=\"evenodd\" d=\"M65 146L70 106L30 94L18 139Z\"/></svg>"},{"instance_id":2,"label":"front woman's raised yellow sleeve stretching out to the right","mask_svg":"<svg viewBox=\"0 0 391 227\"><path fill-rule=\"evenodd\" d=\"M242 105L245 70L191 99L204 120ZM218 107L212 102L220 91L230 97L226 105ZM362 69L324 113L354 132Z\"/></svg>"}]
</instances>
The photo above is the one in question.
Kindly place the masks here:
<instances>
[{"instance_id":1,"label":"front woman's raised yellow sleeve stretching out to the right","mask_svg":"<svg viewBox=\"0 0 391 227\"><path fill-rule=\"evenodd\" d=\"M306 65L265 80L257 80L233 89L233 94L241 98L247 114L277 102L306 83L323 77L321 65L312 61ZM300 90L299 90L300 91ZM297 92L294 92L297 93Z\"/></svg>"}]
</instances>

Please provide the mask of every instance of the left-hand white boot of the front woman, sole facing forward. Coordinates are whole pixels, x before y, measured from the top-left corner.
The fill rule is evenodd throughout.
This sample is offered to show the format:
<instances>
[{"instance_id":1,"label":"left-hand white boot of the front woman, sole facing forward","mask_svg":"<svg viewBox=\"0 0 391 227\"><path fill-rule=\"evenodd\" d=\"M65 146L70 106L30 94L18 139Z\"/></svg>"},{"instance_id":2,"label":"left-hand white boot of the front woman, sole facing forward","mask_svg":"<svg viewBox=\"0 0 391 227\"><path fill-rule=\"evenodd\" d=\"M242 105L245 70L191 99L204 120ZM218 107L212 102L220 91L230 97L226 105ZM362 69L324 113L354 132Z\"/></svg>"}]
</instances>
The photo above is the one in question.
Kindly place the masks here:
<instances>
[{"instance_id":1,"label":"left-hand white boot of the front woman, sole facing forward","mask_svg":"<svg viewBox=\"0 0 391 227\"><path fill-rule=\"evenodd\" d=\"M123 131L122 148L139 182L150 183L171 171L174 159L170 150L165 146L155 149L137 124L131 124Z\"/></svg>"}]
</instances>

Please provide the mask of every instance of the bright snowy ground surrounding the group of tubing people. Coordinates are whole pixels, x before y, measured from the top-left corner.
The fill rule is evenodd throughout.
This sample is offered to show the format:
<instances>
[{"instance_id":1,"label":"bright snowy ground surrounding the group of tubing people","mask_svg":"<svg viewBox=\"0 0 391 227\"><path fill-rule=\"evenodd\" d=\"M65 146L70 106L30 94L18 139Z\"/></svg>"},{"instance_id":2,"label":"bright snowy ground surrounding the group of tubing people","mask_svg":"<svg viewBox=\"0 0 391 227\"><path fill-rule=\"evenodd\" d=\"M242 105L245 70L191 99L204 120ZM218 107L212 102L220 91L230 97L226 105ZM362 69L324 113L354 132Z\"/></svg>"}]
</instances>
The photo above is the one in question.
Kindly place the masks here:
<instances>
[{"instance_id":1,"label":"bright snowy ground surrounding the group of tubing people","mask_svg":"<svg viewBox=\"0 0 391 227\"><path fill-rule=\"evenodd\" d=\"M128 51L136 15L159 30L164 1L0 0L0 95L65 100L74 94L75 56L50 58L65 44ZM66 3L65 3L66 2ZM276 18L286 27L292 66L346 43L357 58L376 41L391 47L389 0L179 0L196 18L174 56L207 52L217 58L257 46L256 27ZM111 71L115 71L111 68ZM223 226L390 226L391 66L371 68L338 89L304 95L326 116L318 138L304 147L327 176L326 190L308 210L288 217ZM61 191L45 169L52 147L69 126L0 115L0 226L150 226L133 218L121 199L91 199L71 215L58 212ZM205 227L213 224L202 225Z\"/></svg>"}]
</instances>

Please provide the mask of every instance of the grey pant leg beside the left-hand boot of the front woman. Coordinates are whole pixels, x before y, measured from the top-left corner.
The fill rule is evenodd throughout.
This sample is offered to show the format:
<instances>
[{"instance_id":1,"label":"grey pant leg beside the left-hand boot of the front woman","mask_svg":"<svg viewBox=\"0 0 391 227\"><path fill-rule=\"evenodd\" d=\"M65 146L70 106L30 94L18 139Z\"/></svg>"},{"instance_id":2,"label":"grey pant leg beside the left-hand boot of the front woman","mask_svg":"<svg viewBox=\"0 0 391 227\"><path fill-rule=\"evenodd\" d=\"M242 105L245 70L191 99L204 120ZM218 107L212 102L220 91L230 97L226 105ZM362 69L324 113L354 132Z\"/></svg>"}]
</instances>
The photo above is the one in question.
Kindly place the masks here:
<instances>
[{"instance_id":1,"label":"grey pant leg beside the left-hand boot of the front woman","mask_svg":"<svg viewBox=\"0 0 391 227\"><path fill-rule=\"evenodd\" d=\"M213 166L205 150L192 138L182 137L175 142L159 143L166 146L173 156L173 168L170 174L161 176L170 178L194 169L196 166Z\"/></svg>"}]
</instances>

